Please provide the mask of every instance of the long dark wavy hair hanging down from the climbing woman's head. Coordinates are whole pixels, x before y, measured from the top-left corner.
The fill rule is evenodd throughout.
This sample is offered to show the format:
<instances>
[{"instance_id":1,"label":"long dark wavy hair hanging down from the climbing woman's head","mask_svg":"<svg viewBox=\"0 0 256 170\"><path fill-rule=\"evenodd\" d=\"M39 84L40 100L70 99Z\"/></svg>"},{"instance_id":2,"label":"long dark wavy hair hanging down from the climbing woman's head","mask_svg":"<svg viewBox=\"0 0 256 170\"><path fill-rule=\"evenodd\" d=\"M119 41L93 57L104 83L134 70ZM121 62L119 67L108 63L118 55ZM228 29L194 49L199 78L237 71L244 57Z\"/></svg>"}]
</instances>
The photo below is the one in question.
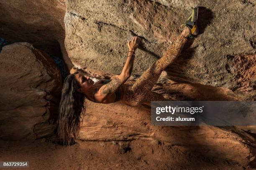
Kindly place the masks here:
<instances>
[{"instance_id":1,"label":"long dark wavy hair hanging down from the climbing woman's head","mask_svg":"<svg viewBox=\"0 0 256 170\"><path fill-rule=\"evenodd\" d=\"M80 118L83 119L85 113L85 95L78 92L79 84L75 80L74 74L68 75L64 80L61 101L59 103L59 119L57 135L63 140L64 145L70 145L72 138L77 139L79 135Z\"/></svg>"}]
</instances>

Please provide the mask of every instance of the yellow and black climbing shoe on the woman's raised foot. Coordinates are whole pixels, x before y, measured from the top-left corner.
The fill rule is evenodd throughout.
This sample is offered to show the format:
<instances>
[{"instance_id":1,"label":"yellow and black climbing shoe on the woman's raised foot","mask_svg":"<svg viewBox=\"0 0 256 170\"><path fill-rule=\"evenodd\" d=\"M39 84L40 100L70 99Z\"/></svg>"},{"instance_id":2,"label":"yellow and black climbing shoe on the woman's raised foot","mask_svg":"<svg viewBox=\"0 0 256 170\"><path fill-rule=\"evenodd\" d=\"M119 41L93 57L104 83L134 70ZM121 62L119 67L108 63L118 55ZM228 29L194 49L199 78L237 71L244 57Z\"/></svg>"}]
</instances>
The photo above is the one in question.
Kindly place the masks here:
<instances>
[{"instance_id":1,"label":"yellow and black climbing shoe on the woman's raised foot","mask_svg":"<svg viewBox=\"0 0 256 170\"><path fill-rule=\"evenodd\" d=\"M192 10L192 13L187 19L186 23L182 24L182 26L187 26L190 29L189 38L192 38L192 35L198 35L199 33L199 30L197 27L198 9L199 7L195 7Z\"/></svg>"}]
</instances>

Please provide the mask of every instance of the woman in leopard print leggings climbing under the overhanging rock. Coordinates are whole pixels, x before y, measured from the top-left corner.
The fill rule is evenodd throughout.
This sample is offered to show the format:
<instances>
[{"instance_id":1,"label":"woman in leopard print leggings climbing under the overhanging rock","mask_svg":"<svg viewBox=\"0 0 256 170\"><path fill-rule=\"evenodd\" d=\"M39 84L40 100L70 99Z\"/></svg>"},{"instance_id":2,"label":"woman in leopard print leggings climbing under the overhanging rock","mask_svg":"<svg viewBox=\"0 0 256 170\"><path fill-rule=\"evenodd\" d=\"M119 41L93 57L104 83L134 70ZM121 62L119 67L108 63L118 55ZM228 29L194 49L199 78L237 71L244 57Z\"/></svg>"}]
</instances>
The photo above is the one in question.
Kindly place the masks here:
<instances>
[{"instance_id":1,"label":"woman in leopard print leggings climbing under the overhanging rock","mask_svg":"<svg viewBox=\"0 0 256 170\"><path fill-rule=\"evenodd\" d=\"M183 24L185 28L176 42L133 85L125 84L125 82L131 76L135 51L141 41L136 36L128 42L128 57L121 74L113 77L112 80L100 80L95 83L89 76L78 72L68 75L62 88L58 120L58 135L64 144L69 145L72 138L76 139L79 134L80 117L84 116L85 111L85 98L97 103L112 103L122 100L131 106L150 100L165 100L162 95L151 92L151 89L161 72L178 57L187 38L198 34L197 15L198 7L192 10L192 14Z\"/></svg>"}]
</instances>

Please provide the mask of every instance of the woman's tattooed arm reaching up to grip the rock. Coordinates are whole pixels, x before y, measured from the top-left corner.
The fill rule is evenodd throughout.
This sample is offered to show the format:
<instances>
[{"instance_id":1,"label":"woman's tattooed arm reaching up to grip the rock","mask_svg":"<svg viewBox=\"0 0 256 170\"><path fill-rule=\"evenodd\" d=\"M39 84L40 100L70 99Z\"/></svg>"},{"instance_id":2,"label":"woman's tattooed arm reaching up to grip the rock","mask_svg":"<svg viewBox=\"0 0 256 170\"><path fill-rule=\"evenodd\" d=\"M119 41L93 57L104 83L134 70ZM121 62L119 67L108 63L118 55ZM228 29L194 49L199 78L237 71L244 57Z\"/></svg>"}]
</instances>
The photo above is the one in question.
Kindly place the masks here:
<instances>
[{"instance_id":1,"label":"woman's tattooed arm reaching up to grip the rock","mask_svg":"<svg viewBox=\"0 0 256 170\"><path fill-rule=\"evenodd\" d=\"M102 85L99 91L95 93L95 99L97 98L97 100L104 101L108 95L113 94L116 90L118 90L118 88L121 85L123 85L126 82L126 80L128 80L133 70L134 54L140 41L140 37L134 36L133 39L128 42L128 57L121 74L116 77L113 77L108 84Z\"/></svg>"}]
</instances>

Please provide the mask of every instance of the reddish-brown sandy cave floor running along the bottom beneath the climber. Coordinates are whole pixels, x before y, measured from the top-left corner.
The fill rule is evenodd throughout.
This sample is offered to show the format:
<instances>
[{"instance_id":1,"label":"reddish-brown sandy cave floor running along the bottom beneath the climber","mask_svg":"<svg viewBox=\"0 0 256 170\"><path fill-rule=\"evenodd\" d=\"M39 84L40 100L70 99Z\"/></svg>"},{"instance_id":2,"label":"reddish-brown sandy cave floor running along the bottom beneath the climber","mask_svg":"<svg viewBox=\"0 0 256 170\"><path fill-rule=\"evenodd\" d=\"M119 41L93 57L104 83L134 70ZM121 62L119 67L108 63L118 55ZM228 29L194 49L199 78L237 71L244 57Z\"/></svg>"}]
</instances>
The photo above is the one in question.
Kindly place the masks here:
<instances>
[{"instance_id":1,"label":"reddish-brown sandy cave floor running along the bottom beneath the climber","mask_svg":"<svg viewBox=\"0 0 256 170\"><path fill-rule=\"evenodd\" d=\"M25 168L29 170L251 170L241 163L222 159L221 155L207 156L209 151L198 153L196 149L187 149L154 140L79 142L71 147L46 142L44 138L0 140L0 161L29 161L29 168ZM243 159L240 156L238 159Z\"/></svg>"}]
</instances>

